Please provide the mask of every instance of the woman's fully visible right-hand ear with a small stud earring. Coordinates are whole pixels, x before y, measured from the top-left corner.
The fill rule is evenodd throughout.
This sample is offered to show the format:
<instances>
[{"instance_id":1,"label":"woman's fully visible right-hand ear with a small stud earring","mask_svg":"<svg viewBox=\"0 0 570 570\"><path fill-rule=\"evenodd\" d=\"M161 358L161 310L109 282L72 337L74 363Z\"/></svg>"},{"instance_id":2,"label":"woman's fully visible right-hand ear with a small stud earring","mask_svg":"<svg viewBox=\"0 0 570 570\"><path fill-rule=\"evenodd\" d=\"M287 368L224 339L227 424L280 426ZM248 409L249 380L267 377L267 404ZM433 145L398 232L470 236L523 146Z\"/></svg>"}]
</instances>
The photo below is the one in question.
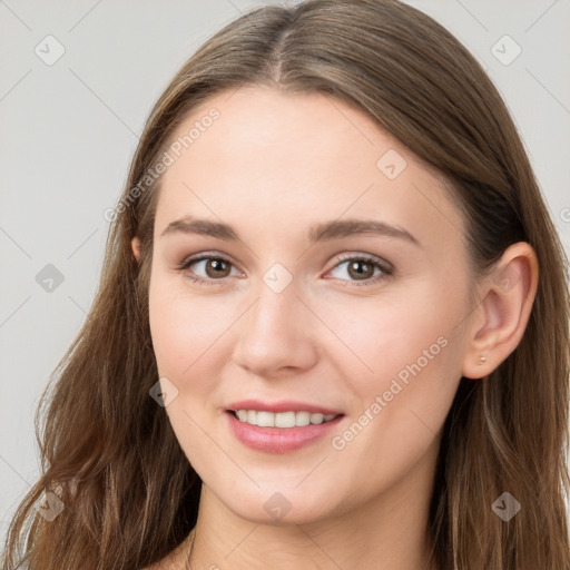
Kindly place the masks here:
<instances>
[{"instance_id":1,"label":"woman's fully visible right-hand ear with a small stud earring","mask_svg":"<svg viewBox=\"0 0 570 570\"><path fill-rule=\"evenodd\" d=\"M484 281L463 356L463 376L487 376L517 348L529 322L538 278L539 264L530 244L519 242L505 249Z\"/></svg>"}]
</instances>

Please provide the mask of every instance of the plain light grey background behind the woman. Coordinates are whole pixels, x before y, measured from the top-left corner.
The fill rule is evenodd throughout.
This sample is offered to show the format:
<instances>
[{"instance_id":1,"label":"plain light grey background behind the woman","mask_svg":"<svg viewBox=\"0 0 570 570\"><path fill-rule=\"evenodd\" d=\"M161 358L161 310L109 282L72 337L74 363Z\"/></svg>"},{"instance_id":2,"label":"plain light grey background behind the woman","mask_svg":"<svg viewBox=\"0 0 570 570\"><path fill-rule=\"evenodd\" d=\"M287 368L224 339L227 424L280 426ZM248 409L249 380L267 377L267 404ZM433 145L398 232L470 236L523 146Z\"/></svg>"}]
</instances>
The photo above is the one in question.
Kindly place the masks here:
<instances>
[{"instance_id":1,"label":"plain light grey background behind the woman","mask_svg":"<svg viewBox=\"0 0 570 570\"><path fill-rule=\"evenodd\" d=\"M144 121L204 40L267 3L278 2L0 0L2 541L38 476L33 412L94 299L104 212L120 195ZM487 68L570 252L570 1L409 3L449 28ZM501 40L505 35L512 40ZM510 61L517 46L522 52ZM50 61L58 49L65 53ZM51 292L37 281L48 264L63 277Z\"/></svg>"}]
</instances>

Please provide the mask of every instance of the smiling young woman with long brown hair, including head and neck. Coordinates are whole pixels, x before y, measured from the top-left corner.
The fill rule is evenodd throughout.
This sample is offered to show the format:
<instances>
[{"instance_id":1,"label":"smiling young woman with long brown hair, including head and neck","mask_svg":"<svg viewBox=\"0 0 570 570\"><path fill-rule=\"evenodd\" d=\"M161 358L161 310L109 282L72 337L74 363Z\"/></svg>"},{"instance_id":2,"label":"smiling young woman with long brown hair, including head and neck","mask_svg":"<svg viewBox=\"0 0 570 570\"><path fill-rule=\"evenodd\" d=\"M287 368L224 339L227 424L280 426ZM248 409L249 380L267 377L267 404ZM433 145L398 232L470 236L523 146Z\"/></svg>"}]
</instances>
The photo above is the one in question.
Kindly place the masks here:
<instances>
[{"instance_id":1,"label":"smiling young woman with long brown hair, including head and neck","mask_svg":"<svg viewBox=\"0 0 570 570\"><path fill-rule=\"evenodd\" d=\"M111 214L7 568L570 568L563 250L435 21L239 18Z\"/></svg>"}]
</instances>

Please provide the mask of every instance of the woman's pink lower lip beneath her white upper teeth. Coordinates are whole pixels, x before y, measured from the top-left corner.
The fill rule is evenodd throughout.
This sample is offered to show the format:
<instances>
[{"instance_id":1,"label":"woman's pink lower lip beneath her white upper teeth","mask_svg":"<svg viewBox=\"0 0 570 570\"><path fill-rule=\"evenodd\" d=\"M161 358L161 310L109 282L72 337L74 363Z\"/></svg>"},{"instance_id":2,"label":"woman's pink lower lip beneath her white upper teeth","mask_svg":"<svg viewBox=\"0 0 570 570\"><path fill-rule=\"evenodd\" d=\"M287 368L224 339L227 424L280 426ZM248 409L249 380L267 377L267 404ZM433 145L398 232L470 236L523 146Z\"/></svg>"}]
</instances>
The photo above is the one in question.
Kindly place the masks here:
<instances>
[{"instance_id":1,"label":"woman's pink lower lip beneath her white upper teeth","mask_svg":"<svg viewBox=\"0 0 570 570\"><path fill-rule=\"evenodd\" d=\"M226 412L226 415L234 435L243 444L267 453L287 453L299 450L324 438L344 417L340 415L330 422L297 428L259 428L239 421L232 412Z\"/></svg>"}]
</instances>

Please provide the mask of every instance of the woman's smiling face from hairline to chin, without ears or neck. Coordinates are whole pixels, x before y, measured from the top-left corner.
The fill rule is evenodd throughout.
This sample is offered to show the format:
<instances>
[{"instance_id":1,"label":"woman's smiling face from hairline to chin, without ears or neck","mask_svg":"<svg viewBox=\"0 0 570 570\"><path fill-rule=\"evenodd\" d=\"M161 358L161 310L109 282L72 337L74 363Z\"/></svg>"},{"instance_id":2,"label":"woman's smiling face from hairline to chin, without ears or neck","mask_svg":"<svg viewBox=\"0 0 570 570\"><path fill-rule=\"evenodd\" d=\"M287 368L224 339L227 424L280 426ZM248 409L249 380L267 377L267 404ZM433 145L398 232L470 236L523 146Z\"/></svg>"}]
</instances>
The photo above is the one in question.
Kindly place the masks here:
<instances>
[{"instance_id":1,"label":"woman's smiling face from hairline to chin, without ears or neck","mask_svg":"<svg viewBox=\"0 0 570 570\"><path fill-rule=\"evenodd\" d=\"M440 181L316 94L220 94L173 141L150 328L206 487L265 522L428 490L471 311L464 223Z\"/></svg>"}]
</instances>

